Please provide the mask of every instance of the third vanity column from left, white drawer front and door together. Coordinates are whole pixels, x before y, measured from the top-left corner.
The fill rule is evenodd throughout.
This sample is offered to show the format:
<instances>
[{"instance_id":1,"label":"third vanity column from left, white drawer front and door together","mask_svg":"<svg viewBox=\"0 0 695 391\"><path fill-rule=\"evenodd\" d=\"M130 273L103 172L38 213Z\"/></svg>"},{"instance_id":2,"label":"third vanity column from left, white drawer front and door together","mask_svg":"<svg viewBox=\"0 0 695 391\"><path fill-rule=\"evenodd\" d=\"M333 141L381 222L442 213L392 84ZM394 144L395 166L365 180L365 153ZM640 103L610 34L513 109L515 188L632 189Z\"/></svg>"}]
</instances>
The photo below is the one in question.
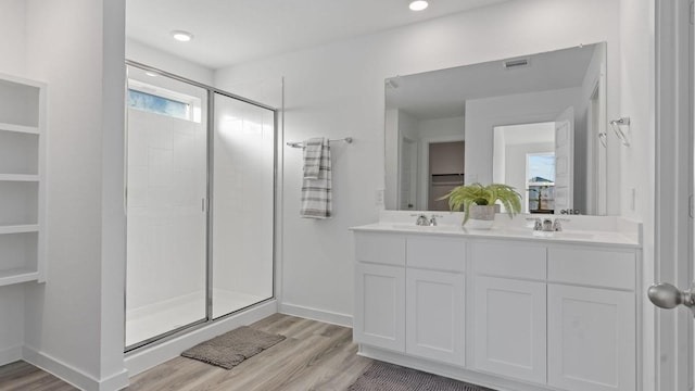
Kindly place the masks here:
<instances>
[{"instance_id":1,"label":"third vanity column from left, white drawer front and door together","mask_svg":"<svg viewBox=\"0 0 695 391\"><path fill-rule=\"evenodd\" d=\"M545 248L473 242L471 258L473 367L545 382Z\"/></svg>"}]
</instances>

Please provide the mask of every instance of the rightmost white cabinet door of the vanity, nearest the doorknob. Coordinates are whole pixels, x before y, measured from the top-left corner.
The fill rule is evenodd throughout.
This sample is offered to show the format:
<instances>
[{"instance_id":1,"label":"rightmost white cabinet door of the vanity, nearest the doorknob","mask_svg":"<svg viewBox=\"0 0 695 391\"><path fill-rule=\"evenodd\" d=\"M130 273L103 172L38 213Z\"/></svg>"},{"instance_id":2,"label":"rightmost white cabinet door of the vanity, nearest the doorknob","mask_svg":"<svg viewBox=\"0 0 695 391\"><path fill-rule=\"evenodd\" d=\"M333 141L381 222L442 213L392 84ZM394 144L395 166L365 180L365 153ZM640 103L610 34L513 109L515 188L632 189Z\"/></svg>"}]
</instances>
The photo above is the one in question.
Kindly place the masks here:
<instances>
[{"instance_id":1,"label":"rightmost white cabinet door of the vanity, nearest the doorknob","mask_svg":"<svg viewBox=\"0 0 695 391\"><path fill-rule=\"evenodd\" d=\"M548 286L548 382L577 391L635 390L631 292Z\"/></svg>"}]
</instances>

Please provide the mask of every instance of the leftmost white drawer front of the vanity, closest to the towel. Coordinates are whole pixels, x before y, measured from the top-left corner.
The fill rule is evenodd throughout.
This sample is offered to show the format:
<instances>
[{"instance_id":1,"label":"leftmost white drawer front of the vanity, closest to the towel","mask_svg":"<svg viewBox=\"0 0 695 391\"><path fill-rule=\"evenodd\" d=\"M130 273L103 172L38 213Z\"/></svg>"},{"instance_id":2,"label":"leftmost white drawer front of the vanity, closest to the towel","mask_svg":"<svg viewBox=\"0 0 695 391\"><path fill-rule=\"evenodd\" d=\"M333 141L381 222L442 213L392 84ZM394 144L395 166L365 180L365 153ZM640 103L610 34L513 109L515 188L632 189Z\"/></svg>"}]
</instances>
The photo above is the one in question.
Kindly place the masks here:
<instances>
[{"instance_id":1,"label":"leftmost white drawer front of the vanity, closest to the towel","mask_svg":"<svg viewBox=\"0 0 695 391\"><path fill-rule=\"evenodd\" d=\"M397 235L355 232L355 257L361 262L405 265L405 238Z\"/></svg>"}]
</instances>

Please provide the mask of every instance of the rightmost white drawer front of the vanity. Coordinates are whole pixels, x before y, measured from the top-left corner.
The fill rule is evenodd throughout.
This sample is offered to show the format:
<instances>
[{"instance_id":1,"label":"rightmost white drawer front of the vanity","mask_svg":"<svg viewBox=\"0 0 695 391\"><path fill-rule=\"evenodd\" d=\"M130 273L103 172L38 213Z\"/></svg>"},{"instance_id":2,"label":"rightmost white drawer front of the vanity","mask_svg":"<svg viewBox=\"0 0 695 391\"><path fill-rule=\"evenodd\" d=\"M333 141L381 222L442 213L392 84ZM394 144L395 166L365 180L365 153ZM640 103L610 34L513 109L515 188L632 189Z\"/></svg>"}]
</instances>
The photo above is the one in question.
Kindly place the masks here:
<instances>
[{"instance_id":1,"label":"rightmost white drawer front of the vanity","mask_svg":"<svg viewBox=\"0 0 695 391\"><path fill-rule=\"evenodd\" d=\"M631 251L548 249L552 281L634 290L635 274L635 254Z\"/></svg>"}]
</instances>

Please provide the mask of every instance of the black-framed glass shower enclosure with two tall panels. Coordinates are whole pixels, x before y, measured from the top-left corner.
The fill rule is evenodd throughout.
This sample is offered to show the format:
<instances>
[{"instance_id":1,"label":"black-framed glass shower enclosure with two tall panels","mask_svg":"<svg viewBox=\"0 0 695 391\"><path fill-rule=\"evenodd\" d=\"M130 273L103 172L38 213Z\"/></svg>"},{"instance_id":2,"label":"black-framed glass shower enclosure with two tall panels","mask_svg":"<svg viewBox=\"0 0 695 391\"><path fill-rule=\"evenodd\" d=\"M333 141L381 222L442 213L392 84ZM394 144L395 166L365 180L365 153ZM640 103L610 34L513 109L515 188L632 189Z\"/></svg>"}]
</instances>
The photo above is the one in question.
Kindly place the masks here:
<instances>
[{"instance_id":1,"label":"black-framed glass shower enclosure with two tall panels","mask_svg":"<svg viewBox=\"0 0 695 391\"><path fill-rule=\"evenodd\" d=\"M276 111L128 64L130 351L274 297Z\"/></svg>"}]
</instances>

